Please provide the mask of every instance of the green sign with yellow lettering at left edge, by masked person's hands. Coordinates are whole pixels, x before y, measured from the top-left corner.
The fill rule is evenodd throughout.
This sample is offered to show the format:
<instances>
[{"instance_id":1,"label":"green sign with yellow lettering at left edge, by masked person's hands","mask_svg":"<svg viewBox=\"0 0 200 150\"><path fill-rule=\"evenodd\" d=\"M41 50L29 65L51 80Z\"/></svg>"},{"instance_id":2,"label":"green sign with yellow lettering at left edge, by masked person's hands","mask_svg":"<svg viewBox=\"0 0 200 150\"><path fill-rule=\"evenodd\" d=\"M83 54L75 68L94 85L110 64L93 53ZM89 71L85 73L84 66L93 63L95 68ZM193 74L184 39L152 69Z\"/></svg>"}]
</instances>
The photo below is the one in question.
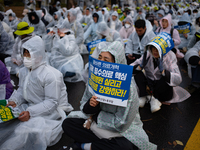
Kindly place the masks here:
<instances>
[{"instance_id":1,"label":"green sign with yellow lettering at left edge, by masked person's hands","mask_svg":"<svg viewBox=\"0 0 200 150\"><path fill-rule=\"evenodd\" d=\"M6 107L7 100L0 100L0 123L14 119L11 108Z\"/></svg>"}]
</instances>

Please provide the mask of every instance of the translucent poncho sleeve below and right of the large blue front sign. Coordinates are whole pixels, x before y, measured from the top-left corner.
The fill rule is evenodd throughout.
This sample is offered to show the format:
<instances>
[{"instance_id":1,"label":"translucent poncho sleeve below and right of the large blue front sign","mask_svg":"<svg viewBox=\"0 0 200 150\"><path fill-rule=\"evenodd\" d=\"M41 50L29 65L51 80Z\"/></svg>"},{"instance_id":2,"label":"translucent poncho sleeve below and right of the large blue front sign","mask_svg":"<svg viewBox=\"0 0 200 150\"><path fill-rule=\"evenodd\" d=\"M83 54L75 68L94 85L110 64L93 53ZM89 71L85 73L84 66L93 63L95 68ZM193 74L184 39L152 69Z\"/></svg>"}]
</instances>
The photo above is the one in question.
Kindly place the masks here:
<instances>
[{"instance_id":1,"label":"translucent poncho sleeve below and right of the large blue front sign","mask_svg":"<svg viewBox=\"0 0 200 150\"><path fill-rule=\"evenodd\" d=\"M136 91L134 79L132 79L127 107L118 106L115 113L100 111L97 118L98 127L110 131L126 131L138 113L139 101Z\"/></svg>"}]
</instances>

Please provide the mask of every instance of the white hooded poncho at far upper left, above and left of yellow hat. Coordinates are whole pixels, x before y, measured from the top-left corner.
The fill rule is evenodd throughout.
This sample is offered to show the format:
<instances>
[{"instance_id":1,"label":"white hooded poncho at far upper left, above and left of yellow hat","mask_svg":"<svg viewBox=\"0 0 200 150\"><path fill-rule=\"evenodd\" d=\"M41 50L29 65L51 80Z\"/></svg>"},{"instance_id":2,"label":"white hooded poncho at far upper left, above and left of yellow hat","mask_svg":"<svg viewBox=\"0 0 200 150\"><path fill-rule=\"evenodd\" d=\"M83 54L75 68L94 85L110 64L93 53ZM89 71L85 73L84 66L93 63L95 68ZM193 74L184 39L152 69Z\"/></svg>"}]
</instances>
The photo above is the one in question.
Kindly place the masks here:
<instances>
[{"instance_id":1,"label":"white hooded poncho at far upper left, above and left of yellow hat","mask_svg":"<svg viewBox=\"0 0 200 150\"><path fill-rule=\"evenodd\" d=\"M8 13L8 15L4 18L4 22L7 23L9 25L9 27L11 27L13 30L17 30L17 25L19 23L19 20L17 19L16 14L11 9L9 9L7 11L7 13ZM9 21L10 14L13 17L12 21Z\"/></svg>"}]
</instances>

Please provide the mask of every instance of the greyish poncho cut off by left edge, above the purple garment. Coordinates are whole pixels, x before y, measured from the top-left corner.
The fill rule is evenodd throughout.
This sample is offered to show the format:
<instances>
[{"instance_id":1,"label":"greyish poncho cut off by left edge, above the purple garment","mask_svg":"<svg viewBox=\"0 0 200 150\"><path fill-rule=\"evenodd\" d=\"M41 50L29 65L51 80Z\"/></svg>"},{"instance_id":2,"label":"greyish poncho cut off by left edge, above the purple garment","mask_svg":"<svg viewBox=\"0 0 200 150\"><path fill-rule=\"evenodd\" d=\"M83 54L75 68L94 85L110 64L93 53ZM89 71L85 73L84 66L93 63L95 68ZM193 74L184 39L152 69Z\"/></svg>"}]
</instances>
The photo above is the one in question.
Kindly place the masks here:
<instances>
[{"instance_id":1,"label":"greyish poncho cut off by left edge, above the purple garment","mask_svg":"<svg viewBox=\"0 0 200 150\"><path fill-rule=\"evenodd\" d=\"M3 28L0 22L0 53L11 55L13 52L14 40Z\"/></svg>"}]
</instances>

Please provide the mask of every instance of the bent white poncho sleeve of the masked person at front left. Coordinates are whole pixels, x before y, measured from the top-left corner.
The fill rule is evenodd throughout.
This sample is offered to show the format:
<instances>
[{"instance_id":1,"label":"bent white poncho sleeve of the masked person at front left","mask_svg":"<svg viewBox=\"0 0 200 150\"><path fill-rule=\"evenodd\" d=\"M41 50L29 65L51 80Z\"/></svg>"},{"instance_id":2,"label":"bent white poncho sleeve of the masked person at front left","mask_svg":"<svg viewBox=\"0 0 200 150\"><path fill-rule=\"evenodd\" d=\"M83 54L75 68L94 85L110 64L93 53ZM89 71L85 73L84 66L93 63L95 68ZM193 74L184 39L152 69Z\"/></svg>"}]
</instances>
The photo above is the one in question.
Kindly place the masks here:
<instances>
[{"instance_id":1,"label":"bent white poncho sleeve of the masked person at front left","mask_svg":"<svg viewBox=\"0 0 200 150\"><path fill-rule=\"evenodd\" d=\"M60 77L61 78L61 77ZM49 115L58 106L58 100L61 95L61 82L62 80L58 80L55 74L52 72L49 73L45 79L42 81L45 83L44 92L45 97L44 100L38 104L29 106L27 111L29 111L31 117L36 116L44 116ZM54 91L54 92L52 92Z\"/></svg>"}]
</instances>

